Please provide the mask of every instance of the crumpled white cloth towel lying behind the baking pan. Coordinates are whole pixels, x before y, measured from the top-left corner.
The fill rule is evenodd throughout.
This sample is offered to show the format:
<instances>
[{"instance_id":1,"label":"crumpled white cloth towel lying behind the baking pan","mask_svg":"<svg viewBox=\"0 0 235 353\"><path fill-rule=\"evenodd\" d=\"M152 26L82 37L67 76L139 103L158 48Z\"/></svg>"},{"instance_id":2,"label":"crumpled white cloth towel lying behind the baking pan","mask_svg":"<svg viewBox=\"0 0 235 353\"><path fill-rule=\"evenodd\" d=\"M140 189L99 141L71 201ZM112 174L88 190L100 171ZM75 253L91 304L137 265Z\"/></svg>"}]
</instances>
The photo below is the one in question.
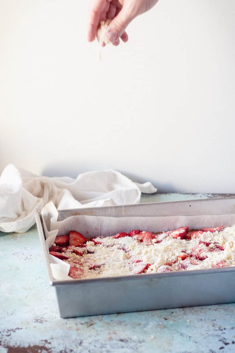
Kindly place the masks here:
<instances>
[{"instance_id":1,"label":"crumpled white cloth towel lying behind the baking pan","mask_svg":"<svg viewBox=\"0 0 235 353\"><path fill-rule=\"evenodd\" d=\"M0 231L26 232L36 211L50 201L57 209L115 206L139 203L141 192L156 191L151 183L133 183L115 170L49 178L8 164L0 177Z\"/></svg>"}]
</instances>

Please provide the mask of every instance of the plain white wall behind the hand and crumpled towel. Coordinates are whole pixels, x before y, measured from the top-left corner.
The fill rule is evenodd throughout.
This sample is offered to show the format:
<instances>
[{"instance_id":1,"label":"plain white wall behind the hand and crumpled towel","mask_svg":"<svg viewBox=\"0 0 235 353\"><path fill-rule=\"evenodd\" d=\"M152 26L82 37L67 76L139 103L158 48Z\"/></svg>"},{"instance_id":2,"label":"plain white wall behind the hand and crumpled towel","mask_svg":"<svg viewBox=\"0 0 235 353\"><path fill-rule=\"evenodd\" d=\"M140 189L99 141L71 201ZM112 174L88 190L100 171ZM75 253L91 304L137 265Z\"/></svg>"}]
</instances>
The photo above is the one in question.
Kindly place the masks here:
<instances>
[{"instance_id":1,"label":"plain white wall behind the hand and crumpled towel","mask_svg":"<svg viewBox=\"0 0 235 353\"><path fill-rule=\"evenodd\" d=\"M160 0L129 42L86 41L88 0L0 0L0 172L113 168L235 192L235 1Z\"/></svg>"}]
</instances>

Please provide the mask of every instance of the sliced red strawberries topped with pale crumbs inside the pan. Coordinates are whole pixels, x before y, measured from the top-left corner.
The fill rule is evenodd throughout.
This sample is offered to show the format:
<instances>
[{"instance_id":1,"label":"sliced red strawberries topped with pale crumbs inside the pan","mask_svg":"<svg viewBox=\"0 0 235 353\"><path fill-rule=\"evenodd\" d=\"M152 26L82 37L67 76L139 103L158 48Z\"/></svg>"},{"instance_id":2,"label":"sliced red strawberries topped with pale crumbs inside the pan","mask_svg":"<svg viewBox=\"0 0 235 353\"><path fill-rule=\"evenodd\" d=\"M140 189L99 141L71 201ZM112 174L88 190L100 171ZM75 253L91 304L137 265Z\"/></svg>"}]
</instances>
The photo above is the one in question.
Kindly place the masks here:
<instances>
[{"instance_id":1,"label":"sliced red strawberries topped with pale crumbs inside the pan","mask_svg":"<svg viewBox=\"0 0 235 353\"><path fill-rule=\"evenodd\" d=\"M235 266L235 225L152 233L134 229L112 237L59 235L49 253L70 265L74 279Z\"/></svg>"}]
</instances>

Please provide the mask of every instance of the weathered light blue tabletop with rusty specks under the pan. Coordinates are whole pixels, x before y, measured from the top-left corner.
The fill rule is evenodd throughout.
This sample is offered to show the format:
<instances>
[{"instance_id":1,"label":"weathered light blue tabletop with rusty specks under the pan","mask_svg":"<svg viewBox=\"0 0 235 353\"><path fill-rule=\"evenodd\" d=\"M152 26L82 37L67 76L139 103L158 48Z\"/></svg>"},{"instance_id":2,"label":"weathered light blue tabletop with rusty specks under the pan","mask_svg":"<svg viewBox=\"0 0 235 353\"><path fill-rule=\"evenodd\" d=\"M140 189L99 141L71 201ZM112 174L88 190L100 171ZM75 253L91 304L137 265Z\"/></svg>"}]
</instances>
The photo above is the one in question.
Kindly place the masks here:
<instances>
[{"instance_id":1,"label":"weathered light blue tabletop with rusty specks under the pan","mask_svg":"<svg viewBox=\"0 0 235 353\"><path fill-rule=\"evenodd\" d=\"M61 319L36 227L0 232L0 244L0 353L235 352L235 304Z\"/></svg>"}]
</instances>

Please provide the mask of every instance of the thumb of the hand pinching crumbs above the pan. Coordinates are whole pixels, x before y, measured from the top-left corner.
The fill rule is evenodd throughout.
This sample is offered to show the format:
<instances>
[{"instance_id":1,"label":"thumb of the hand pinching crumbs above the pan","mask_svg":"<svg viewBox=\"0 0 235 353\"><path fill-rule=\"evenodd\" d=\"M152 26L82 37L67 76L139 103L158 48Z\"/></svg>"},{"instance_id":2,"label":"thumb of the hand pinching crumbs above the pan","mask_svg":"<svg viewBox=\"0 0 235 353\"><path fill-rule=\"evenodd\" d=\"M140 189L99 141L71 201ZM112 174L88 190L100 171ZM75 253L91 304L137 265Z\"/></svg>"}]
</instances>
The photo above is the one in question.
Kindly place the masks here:
<instances>
[{"instance_id":1,"label":"thumb of the hand pinching crumbs above the pan","mask_svg":"<svg viewBox=\"0 0 235 353\"><path fill-rule=\"evenodd\" d=\"M107 28L107 40L111 43L116 42L118 38L123 35L126 26L128 26L134 17L135 16L131 9L124 5L122 10L117 14Z\"/></svg>"}]
</instances>

